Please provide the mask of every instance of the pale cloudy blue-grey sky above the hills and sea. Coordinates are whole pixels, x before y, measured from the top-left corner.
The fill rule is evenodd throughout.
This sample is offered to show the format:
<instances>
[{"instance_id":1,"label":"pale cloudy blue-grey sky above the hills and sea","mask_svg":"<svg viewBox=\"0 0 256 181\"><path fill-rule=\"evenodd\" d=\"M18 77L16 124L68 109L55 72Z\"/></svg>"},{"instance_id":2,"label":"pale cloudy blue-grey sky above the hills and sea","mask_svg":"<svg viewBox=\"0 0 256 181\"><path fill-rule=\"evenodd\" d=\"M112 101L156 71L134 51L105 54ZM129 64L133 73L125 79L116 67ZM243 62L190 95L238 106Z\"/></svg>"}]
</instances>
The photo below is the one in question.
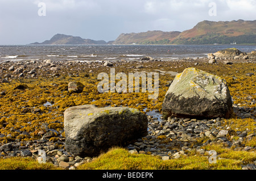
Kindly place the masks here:
<instances>
[{"instance_id":1,"label":"pale cloudy blue-grey sky above the hills and sea","mask_svg":"<svg viewBox=\"0 0 256 181\"><path fill-rule=\"evenodd\" d=\"M184 31L203 20L255 20L256 0L0 0L0 45L57 33L111 41L121 33Z\"/></svg>"}]
</instances>

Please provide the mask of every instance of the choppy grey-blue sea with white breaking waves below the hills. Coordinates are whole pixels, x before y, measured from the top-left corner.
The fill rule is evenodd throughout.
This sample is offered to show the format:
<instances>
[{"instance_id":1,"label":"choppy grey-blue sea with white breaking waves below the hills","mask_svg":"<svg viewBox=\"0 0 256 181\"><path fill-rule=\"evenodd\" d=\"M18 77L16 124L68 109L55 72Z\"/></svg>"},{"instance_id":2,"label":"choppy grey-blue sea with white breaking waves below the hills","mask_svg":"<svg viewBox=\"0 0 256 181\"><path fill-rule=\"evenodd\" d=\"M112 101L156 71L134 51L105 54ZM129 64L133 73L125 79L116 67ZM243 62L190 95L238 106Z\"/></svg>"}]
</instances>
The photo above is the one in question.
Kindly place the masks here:
<instances>
[{"instance_id":1,"label":"choppy grey-blue sea with white breaking waves below the hills","mask_svg":"<svg viewBox=\"0 0 256 181\"><path fill-rule=\"evenodd\" d=\"M254 45L0 45L0 63L5 61L137 61L204 58L226 48L249 53Z\"/></svg>"}]
</instances>

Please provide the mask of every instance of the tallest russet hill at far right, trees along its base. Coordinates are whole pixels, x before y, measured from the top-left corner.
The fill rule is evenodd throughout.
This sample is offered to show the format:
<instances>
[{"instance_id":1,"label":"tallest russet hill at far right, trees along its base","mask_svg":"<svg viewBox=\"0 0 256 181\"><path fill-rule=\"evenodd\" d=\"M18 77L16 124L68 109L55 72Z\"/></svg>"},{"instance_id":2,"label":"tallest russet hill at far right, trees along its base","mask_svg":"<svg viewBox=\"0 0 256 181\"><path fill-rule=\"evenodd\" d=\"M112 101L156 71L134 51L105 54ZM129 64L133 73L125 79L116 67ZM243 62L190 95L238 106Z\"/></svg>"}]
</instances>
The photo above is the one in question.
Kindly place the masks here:
<instances>
[{"instance_id":1,"label":"tallest russet hill at far right, trees along its base","mask_svg":"<svg viewBox=\"0 0 256 181\"><path fill-rule=\"evenodd\" d=\"M174 44L256 44L256 20L210 22L204 20L191 30L183 31Z\"/></svg>"}]
</instances>

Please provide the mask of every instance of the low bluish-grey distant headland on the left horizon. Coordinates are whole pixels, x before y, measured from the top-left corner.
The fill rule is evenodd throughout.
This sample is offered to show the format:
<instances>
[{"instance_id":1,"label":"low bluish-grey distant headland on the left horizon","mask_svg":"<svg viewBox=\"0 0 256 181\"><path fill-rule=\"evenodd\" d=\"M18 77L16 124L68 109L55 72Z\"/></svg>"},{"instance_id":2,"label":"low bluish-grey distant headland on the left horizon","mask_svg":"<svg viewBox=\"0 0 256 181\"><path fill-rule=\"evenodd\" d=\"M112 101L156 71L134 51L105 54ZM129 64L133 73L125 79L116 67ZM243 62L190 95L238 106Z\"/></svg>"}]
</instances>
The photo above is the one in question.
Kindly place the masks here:
<instances>
[{"instance_id":1,"label":"low bluish-grey distant headland on the left horizon","mask_svg":"<svg viewBox=\"0 0 256 181\"><path fill-rule=\"evenodd\" d=\"M31 43L30 45L106 45L104 40L82 39L80 36L56 34L50 40L43 43Z\"/></svg>"}]
</instances>

